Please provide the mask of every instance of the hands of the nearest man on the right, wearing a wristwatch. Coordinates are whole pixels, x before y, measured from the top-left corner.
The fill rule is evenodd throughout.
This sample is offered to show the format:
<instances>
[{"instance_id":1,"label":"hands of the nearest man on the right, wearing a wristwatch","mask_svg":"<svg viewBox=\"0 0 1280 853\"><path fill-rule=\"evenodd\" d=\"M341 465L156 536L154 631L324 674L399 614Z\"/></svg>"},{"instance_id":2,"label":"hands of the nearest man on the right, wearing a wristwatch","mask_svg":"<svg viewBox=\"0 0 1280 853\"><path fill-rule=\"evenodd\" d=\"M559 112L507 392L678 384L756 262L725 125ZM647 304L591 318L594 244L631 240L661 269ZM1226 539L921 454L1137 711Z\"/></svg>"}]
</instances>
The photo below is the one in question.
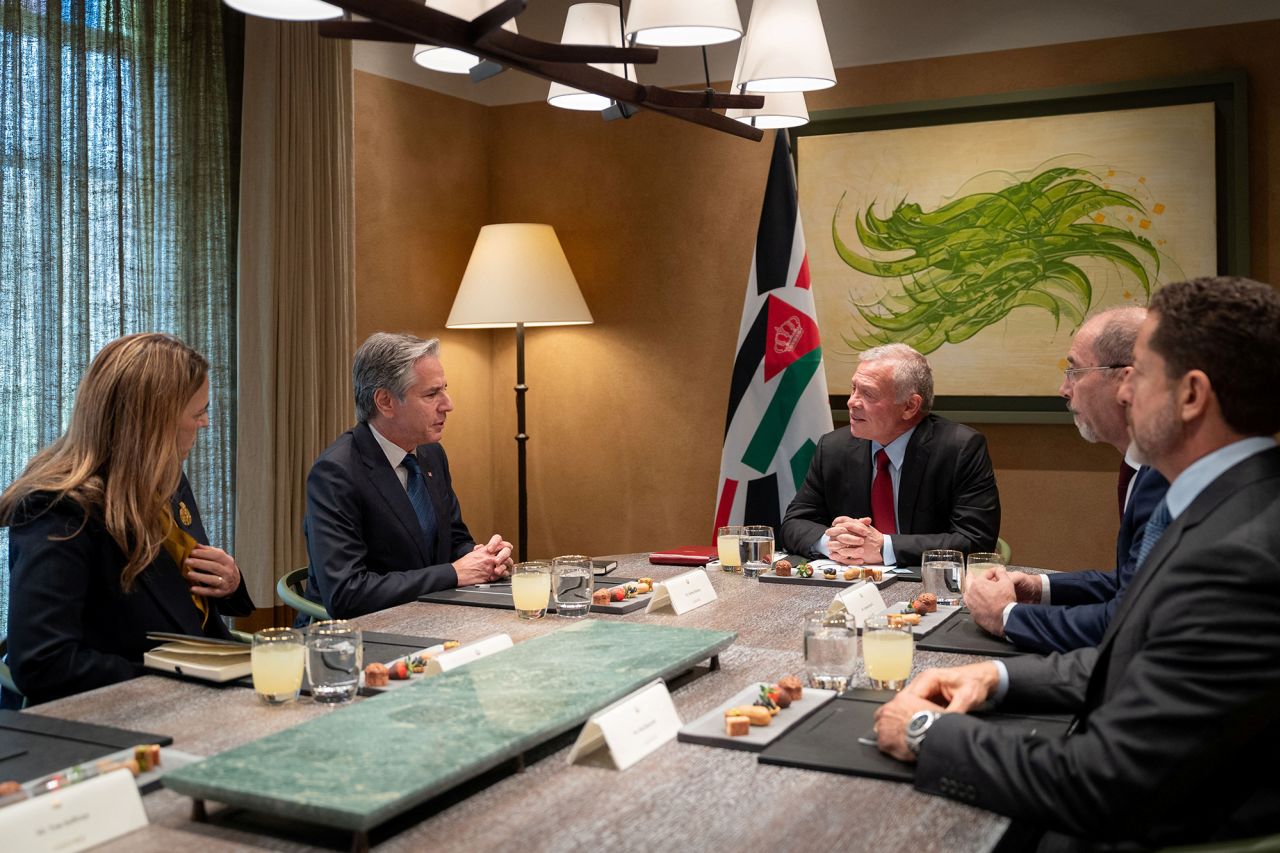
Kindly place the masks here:
<instances>
[{"instance_id":1,"label":"hands of the nearest man on the right, wearing a wristwatch","mask_svg":"<svg viewBox=\"0 0 1280 853\"><path fill-rule=\"evenodd\" d=\"M918 711L965 713L991 698L1000 672L991 661L946 670L924 670L902 692L876 711L876 738L881 752L899 761L915 761L906 745L906 724Z\"/></svg>"}]
</instances>

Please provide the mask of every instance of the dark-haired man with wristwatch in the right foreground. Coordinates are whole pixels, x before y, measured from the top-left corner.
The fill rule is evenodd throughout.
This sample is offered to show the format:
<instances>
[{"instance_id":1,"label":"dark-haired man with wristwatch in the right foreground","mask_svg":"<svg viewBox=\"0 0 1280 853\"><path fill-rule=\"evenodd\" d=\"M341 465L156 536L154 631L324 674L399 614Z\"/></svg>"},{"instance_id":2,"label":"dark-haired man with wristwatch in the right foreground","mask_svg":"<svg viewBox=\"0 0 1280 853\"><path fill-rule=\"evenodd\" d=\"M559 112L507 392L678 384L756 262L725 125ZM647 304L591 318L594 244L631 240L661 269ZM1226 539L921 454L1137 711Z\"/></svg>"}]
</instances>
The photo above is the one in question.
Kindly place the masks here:
<instances>
[{"instance_id":1,"label":"dark-haired man with wristwatch in the right foreground","mask_svg":"<svg viewBox=\"0 0 1280 853\"><path fill-rule=\"evenodd\" d=\"M1170 480L1139 570L1100 646L927 670L879 708L881 749L918 761L918 789L1059 847L1280 830L1276 387L1276 291L1211 278L1156 292L1120 391L1134 447ZM957 713L988 699L1075 713L1074 731Z\"/></svg>"}]
</instances>

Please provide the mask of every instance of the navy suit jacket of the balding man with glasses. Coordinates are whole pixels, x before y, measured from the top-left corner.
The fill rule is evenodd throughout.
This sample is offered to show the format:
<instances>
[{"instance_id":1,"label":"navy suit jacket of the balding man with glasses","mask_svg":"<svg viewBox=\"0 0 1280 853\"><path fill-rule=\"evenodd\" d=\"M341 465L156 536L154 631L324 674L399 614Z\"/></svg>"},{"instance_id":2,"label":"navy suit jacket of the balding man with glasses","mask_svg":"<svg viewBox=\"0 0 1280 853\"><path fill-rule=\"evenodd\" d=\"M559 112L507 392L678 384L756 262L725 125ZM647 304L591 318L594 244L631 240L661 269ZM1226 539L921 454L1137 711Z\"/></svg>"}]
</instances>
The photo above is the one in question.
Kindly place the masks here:
<instances>
[{"instance_id":1,"label":"navy suit jacket of the balding man with glasses","mask_svg":"<svg viewBox=\"0 0 1280 853\"><path fill-rule=\"evenodd\" d=\"M1005 638L1025 652L1069 652L1102 642L1107 622L1138 570L1138 548L1147 519L1167 491L1169 480L1160 471L1146 465L1138 469L1120 519L1116 570L1064 571L1051 576L1052 603L1014 607L1005 622Z\"/></svg>"}]
</instances>

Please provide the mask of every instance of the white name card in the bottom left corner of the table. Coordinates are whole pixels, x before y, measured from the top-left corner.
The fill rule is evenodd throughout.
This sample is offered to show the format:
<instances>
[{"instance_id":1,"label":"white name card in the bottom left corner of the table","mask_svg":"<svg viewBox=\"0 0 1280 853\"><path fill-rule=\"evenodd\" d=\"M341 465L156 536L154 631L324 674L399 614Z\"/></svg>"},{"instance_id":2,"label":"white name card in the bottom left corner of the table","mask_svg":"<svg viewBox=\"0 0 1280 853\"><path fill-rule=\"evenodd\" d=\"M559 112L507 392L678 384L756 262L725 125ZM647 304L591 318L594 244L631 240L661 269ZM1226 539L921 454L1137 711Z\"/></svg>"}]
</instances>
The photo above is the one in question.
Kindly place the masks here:
<instances>
[{"instance_id":1,"label":"white name card in the bottom left corner of the table","mask_svg":"<svg viewBox=\"0 0 1280 853\"><path fill-rule=\"evenodd\" d=\"M123 767L0 808L6 850L78 853L146 825L138 786Z\"/></svg>"}]
</instances>

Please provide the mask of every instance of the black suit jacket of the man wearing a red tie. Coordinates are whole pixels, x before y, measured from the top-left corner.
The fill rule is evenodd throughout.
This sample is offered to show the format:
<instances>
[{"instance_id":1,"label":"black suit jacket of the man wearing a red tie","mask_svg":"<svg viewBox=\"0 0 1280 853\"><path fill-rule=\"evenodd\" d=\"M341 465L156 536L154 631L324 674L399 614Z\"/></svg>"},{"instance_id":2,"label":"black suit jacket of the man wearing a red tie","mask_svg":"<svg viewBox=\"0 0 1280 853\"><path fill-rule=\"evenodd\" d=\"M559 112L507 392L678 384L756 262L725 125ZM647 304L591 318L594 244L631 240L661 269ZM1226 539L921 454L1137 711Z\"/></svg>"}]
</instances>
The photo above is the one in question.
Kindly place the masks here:
<instances>
[{"instance_id":1,"label":"black suit jacket of the man wearing a red tie","mask_svg":"<svg viewBox=\"0 0 1280 853\"><path fill-rule=\"evenodd\" d=\"M782 519L782 544L818 556L814 543L841 515L872 514L872 443L847 428L818 442L809 474ZM932 548L995 551L1000 535L1000 492L987 439L968 426L928 415L906 444L897 489L899 565L920 565Z\"/></svg>"}]
</instances>

